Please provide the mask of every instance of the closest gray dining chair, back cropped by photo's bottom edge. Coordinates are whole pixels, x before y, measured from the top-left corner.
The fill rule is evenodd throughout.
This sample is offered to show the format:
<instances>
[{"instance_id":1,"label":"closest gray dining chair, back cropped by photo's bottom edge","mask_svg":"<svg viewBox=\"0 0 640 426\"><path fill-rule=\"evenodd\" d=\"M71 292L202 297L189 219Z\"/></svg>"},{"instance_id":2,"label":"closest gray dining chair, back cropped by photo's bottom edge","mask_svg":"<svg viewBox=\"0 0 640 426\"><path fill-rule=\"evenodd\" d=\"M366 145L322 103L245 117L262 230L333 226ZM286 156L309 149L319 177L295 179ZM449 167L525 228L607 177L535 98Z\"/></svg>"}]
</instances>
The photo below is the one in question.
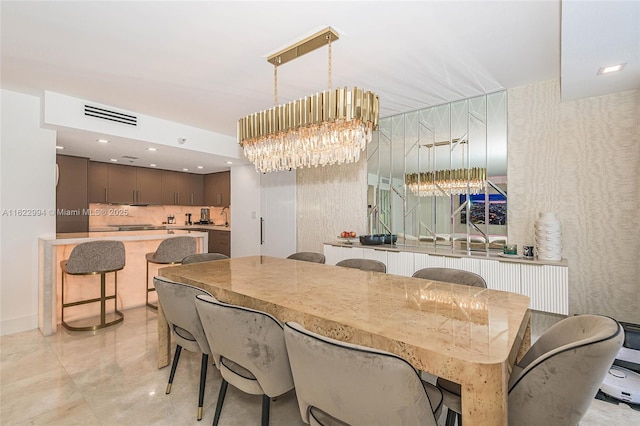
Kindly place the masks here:
<instances>
[{"instance_id":1,"label":"closest gray dining chair, back cropped by photo's bottom edge","mask_svg":"<svg viewBox=\"0 0 640 426\"><path fill-rule=\"evenodd\" d=\"M406 360L287 322L302 421L325 425L436 425L442 394Z\"/></svg>"}]
</instances>

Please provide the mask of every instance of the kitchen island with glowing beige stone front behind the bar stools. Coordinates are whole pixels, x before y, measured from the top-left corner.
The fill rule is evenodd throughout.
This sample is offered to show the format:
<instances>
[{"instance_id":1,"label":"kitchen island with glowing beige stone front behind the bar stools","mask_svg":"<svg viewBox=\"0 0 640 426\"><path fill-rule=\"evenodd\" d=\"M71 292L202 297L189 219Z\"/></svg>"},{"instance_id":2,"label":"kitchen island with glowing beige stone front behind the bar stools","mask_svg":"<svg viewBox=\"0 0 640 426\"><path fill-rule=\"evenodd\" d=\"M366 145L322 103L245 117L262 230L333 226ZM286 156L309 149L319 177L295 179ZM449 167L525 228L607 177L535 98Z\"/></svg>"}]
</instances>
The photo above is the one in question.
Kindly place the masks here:
<instances>
[{"instance_id":1,"label":"kitchen island with glowing beige stone front behind the bar stools","mask_svg":"<svg viewBox=\"0 0 640 426\"><path fill-rule=\"evenodd\" d=\"M195 237L197 252L205 253L208 248L208 233L195 230L146 230L146 231L108 231L81 232L57 234L56 237L43 237L38 241L38 328L43 335L48 336L56 332L60 322L62 301L60 286L62 271L60 262L68 259L73 248L81 243L96 240L122 241L125 245L126 266L118 272L118 308L129 309L145 304L145 278L147 253L154 252L158 244L167 238L179 236ZM156 275L162 265L150 264L149 274ZM113 274L108 274L113 275ZM95 281L95 286L81 286L80 282ZM91 297L99 291L100 280L96 277L68 276L65 278L65 299L76 300ZM108 292L111 292L113 278L109 276ZM75 320L90 317L97 312L97 305L76 307L74 312L65 310L65 320Z\"/></svg>"}]
</instances>

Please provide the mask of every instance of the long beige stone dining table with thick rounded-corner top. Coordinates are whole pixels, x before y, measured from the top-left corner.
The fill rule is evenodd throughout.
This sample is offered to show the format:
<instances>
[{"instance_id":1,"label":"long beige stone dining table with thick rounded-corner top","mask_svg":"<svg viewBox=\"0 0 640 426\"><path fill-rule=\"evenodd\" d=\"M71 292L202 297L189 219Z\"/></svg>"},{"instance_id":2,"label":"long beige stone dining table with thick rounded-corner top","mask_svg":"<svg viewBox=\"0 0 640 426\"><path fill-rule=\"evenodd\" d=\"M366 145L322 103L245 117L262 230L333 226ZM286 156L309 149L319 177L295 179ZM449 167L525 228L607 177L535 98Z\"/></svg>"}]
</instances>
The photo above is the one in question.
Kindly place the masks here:
<instances>
[{"instance_id":1,"label":"long beige stone dining table with thick rounded-corner top","mask_svg":"<svg viewBox=\"0 0 640 426\"><path fill-rule=\"evenodd\" d=\"M509 376L531 339L527 296L269 256L166 267L159 275L283 323L396 354L461 385L465 424L508 424ZM169 364L170 348L160 305L159 368Z\"/></svg>"}]
</instances>

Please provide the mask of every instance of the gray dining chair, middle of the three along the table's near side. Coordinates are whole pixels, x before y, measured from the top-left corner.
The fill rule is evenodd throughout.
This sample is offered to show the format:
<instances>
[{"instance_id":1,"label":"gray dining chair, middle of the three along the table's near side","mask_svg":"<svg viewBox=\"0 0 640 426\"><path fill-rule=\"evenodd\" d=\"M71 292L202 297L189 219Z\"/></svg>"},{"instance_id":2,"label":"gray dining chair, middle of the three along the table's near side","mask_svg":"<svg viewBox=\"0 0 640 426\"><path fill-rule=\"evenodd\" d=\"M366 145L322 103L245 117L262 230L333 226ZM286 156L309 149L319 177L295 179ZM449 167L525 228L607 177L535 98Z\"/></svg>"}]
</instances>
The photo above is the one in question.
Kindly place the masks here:
<instances>
[{"instance_id":1,"label":"gray dining chair, middle of the three along the table's near side","mask_svg":"<svg viewBox=\"0 0 640 426\"><path fill-rule=\"evenodd\" d=\"M271 398L293 389L282 325L276 318L241 306L197 296L196 308L222 375L214 426L220 421L228 384L262 395L262 426L269 424Z\"/></svg>"}]
</instances>

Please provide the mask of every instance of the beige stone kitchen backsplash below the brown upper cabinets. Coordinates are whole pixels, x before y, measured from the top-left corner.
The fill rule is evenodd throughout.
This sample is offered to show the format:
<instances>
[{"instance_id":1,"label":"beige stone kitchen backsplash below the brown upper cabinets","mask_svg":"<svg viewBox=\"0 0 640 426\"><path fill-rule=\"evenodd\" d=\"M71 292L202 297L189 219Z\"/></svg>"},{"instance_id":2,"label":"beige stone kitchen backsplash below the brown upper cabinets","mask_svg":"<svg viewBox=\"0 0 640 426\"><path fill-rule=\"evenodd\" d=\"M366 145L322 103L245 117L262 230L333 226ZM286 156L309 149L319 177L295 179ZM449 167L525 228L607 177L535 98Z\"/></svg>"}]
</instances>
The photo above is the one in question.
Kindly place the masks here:
<instances>
[{"instance_id":1,"label":"beige stone kitchen backsplash below the brown upper cabinets","mask_svg":"<svg viewBox=\"0 0 640 426\"><path fill-rule=\"evenodd\" d=\"M209 220L214 225L224 225L225 220L231 224L230 207L222 213L223 207L209 206L126 206L109 204L89 204L91 216L89 216L89 229L109 225L163 225L167 223L167 217L173 215L176 225L185 225L187 213L191 213L191 222L200 220L200 209L208 208Z\"/></svg>"}]
</instances>

